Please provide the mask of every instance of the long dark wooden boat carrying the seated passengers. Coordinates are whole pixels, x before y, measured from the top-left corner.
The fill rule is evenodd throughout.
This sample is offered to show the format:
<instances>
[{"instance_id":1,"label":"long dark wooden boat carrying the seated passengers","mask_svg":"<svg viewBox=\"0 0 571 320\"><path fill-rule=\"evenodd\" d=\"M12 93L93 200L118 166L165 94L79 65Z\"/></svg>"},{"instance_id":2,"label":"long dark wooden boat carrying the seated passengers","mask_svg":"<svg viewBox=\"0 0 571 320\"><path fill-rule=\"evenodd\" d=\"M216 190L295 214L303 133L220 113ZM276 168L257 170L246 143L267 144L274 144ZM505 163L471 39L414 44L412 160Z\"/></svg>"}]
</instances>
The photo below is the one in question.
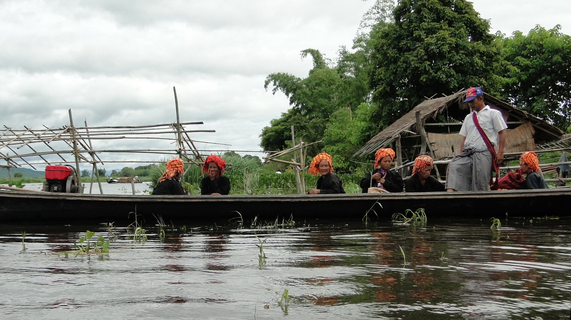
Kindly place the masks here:
<instances>
[{"instance_id":1,"label":"long dark wooden boat carrying the seated passengers","mask_svg":"<svg viewBox=\"0 0 571 320\"><path fill-rule=\"evenodd\" d=\"M379 202L379 204L376 204ZM0 191L0 222L47 224L62 221L112 222L134 220L135 212L147 221L154 215L164 221L228 220L242 214L275 220L347 218L361 220L371 208L380 220L395 212L425 208L431 217L505 218L570 216L571 189L383 193L348 195L255 196L146 196L81 195ZM382 207L381 207L382 206ZM372 220L375 212L369 212Z\"/></svg>"}]
</instances>

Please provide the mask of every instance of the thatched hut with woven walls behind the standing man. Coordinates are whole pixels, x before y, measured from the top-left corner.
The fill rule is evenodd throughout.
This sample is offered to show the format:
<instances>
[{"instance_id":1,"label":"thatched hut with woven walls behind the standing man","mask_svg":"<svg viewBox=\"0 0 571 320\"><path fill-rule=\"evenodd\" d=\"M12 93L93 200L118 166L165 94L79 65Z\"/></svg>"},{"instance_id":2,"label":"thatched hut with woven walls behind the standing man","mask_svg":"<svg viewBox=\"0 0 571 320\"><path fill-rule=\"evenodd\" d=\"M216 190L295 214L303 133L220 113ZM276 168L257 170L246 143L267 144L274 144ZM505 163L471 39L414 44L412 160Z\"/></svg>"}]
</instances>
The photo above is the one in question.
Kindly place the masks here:
<instances>
[{"instance_id":1,"label":"thatched hut with woven walls behind the standing man","mask_svg":"<svg viewBox=\"0 0 571 320\"><path fill-rule=\"evenodd\" d=\"M457 133L460 131L461 121L464 121L465 116L470 112L468 103L463 102L466 91L425 100L379 132L363 148L359 149L355 156L368 155L379 148L388 147L396 139L403 139L403 158L413 160L419 154L419 147L421 147L419 142L421 137L417 133L419 132L416 123L417 111L420 112L421 122L432 144L436 159L459 153L460 135ZM484 102L491 108L501 111L508 124L505 152L533 151L536 143L559 140L565 133L548 122L486 93L484 93ZM442 119L445 121L442 122Z\"/></svg>"}]
</instances>

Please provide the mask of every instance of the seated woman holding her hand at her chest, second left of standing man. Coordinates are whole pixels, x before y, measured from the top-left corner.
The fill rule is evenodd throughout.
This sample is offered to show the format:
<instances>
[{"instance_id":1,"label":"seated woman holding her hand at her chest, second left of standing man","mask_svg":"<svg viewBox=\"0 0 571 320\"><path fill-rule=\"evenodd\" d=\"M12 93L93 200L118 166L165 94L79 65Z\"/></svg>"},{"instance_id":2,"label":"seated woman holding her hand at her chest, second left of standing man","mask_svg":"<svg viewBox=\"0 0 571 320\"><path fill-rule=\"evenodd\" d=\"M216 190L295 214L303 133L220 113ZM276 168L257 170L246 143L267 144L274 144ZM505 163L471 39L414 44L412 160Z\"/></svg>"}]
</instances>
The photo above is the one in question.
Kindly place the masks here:
<instances>
[{"instance_id":1,"label":"seated woman holding her hand at her chest, second left of standing man","mask_svg":"<svg viewBox=\"0 0 571 320\"><path fill-rule=\"evenodd\" d=\"M390 148L379 149L375 152L375 169L361 179L360 186L363 193L368 193L369 188L376 188L372 189L372 193L403 192L403 177L398 172L389 170L394 158L395 151Z\"/></svg>"}]
</instances>

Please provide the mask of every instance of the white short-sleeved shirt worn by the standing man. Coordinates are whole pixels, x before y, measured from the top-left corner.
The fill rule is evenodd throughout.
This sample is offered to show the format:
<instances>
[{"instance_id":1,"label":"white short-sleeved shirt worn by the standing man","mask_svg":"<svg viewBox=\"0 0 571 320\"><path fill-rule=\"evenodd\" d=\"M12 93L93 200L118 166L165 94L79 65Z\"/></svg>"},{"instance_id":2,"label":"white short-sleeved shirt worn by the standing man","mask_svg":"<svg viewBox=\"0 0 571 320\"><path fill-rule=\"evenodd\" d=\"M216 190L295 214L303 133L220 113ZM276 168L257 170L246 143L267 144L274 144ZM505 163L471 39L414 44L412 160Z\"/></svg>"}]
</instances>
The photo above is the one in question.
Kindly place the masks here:
<instances>
[{"instance_id":1,"label":"white short-sleeved shirt worn by the standing man","mask_svg":"<svg viewBox=\"0 0 571 320\"><path fill-rule=\"evenodd\" d=\"M462 124L462 128L460 129L460 135L466 137L466 141L464 141L464 147L474 147L476 149L487 149L486 143L478 128L476 128L476 124L472 119L472 113L476 111L470 112L466 118L464 119L464 123ZM508 128L508 125L505 124L504 118L501 115L501 112L495 109L490 108L490 106L485 106L480 112L476 112L476 118L478 118L478 123L480 123L480 127L488 136L488 139L492 142L493 145L498 144L498 132L502 131L503 129Z\"/></svg>"}]
</instances>

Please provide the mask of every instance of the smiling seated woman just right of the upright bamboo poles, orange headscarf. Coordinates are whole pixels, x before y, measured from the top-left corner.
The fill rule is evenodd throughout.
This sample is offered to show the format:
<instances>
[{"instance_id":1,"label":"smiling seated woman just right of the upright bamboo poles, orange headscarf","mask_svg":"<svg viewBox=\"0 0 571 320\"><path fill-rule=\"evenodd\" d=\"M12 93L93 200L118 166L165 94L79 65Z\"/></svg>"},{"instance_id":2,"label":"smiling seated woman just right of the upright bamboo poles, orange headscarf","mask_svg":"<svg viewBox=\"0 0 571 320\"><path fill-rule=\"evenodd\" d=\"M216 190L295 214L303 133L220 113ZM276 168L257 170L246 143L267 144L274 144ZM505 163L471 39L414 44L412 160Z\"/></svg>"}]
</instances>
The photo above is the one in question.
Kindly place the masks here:
<instances>
[{"instance_id":1,"label":"smiling seated woman just right of the upright bamboo poles, orange headscarf","mask_svg":"<svg viewBox=\"0 0 571 320\"><path fill-rule=\"evenodd\" d=\"M321 175L317 179L317 189L310 190L308 195L327 195L332 193L345 193L343 183L339 177L333 173L331 156L325 152L319 153L313 157L313 161L309 165L308 172L310 175Z\"/></svg>"}]
</instances>

